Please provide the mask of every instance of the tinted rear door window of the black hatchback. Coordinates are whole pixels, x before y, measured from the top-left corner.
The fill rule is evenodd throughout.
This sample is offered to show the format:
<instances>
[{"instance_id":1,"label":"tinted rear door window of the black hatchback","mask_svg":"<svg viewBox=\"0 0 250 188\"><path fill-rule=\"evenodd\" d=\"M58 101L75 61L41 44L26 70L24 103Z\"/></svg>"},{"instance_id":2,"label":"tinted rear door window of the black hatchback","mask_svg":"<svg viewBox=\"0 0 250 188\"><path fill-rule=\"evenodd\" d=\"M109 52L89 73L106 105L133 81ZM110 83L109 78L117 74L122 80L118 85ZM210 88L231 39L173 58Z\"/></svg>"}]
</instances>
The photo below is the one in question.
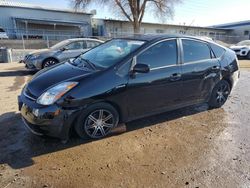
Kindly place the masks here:
<instances>
[{"instance_id":1,"label":"tinted rear door window of the black hatchback","mask_svg":"<svg viewBox=\"0 0 250 188\"><path fill-rule=\"evenodd\" d=\"M184 63L211 59L211 51L206 43L194 40L182 40Z\"/></svg>"}]
</instances>

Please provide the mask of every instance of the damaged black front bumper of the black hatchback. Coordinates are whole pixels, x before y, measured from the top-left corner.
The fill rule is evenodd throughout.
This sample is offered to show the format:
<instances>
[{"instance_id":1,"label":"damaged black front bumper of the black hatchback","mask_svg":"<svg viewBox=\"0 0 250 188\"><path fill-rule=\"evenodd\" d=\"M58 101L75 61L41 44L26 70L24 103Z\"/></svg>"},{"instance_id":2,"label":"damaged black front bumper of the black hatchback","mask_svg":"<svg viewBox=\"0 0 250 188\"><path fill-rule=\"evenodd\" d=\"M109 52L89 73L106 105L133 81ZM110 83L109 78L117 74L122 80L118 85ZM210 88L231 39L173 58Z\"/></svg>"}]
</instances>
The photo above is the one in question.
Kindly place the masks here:
<instances>
[{"instance_id":1,"label":"damaged black front bumper of the black hatchback","mask_svg":"<svg viewBox=\"0 0 250 188\"><path fill-rule=\"evenodd\" d=\"M26 127L39 136L67 140L79 109L65 110L57 105L43 106L25 97L18 96L18 106Z\"/></svg>"}]
</instances>

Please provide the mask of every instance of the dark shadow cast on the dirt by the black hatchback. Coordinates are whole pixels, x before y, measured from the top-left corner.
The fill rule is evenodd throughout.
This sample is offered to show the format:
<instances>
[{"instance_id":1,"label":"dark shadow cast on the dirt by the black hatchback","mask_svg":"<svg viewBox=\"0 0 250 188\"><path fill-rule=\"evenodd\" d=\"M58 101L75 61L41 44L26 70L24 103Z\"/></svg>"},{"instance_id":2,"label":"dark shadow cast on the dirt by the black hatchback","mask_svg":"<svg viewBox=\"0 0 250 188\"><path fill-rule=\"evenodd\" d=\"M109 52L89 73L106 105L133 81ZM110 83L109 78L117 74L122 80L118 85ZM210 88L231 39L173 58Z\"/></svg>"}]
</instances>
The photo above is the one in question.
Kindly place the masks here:
<instances>
[{"instance_id":1,"label":"dark shadow cast on the dirt by the black hatchback","mask_svg":"<svg viewBox=\"0 0 250 188\"><path fill-rule=\"evenodd\" d=\"M109 137L130 132L158 123L190 116L208 109L207 105L192 107L163 113L140 120L122 124ZM104 138L105 139L105 138ZM8 164L13 169L20 169L34 164L33 157L57 152L96 140L82 140L73 134L67 143L48 137L38 137L24 127L19 113L8 112L0 115L0 165Z\"/></svg>"}]
</instances>

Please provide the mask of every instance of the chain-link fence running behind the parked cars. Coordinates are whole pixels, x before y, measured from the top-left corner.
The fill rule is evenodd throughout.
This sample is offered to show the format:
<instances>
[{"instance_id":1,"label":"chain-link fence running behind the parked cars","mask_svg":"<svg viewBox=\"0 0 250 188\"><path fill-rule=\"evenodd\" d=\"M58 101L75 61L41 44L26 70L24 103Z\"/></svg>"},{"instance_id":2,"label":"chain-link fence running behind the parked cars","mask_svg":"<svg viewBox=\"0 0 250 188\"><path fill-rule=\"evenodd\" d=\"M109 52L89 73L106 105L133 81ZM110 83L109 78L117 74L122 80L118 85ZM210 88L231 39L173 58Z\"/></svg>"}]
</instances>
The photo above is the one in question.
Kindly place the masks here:
<instances>
[{"instance_id":1,"label":"chain-link fence running behind the parked cars","mask_svg":"<svg viewBox=\"0 0 250 188\"><path fill-rule=\"evenodd\" d=\"M80 32L63 31L63 30L62 31L46 30L46 32L40 30L29 30L29 32L26 32L25 30L20 30L15 32L13 32L13 30L6 30L6 33L9 38L1 39L0 35L0 47L12 49L11 56L13 62L19 61L27 53L31 51L37 49L49 48L62 40L86 37L82 36ZM141 34L157 35L157 33L141 33ZM171 34L171 33L160 33L160 34ZM135 34L132 32L131 33L113 32L113 33L108 33L106 36L92 36L92 37L105 41L111 38L128 37L133 35ZM226 47L229 47L232 44L235 44L239 41L247 40L247 38L244 37L230 36L230 35L205 35L205 36L196 35L196 36L213 39L214 41Z\"/></svg>"}]
</instances>

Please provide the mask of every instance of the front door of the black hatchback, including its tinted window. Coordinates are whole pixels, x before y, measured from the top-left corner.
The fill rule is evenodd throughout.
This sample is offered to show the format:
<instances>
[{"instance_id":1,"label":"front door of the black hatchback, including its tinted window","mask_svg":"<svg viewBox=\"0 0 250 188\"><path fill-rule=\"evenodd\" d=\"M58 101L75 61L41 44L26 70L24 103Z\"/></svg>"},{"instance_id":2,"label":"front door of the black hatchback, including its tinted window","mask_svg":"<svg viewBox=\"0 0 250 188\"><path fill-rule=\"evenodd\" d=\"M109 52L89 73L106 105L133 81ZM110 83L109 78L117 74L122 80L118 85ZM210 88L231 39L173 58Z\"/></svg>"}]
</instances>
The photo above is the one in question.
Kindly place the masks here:
<instances>
[{"instance_id":1,"label":"front door of the black hatchback, including its tinted window","mask_svg":"<svg viewBox=\"0 0 250 188\"><path fill-rule=\"evenodd\" d=\"M158 42L136 58L147 64L149 73L137 73L129 79L127 105L130 117L140 117L177 105L181 95L181 67L176 39Z\"/></svg>"}]
</instances>

